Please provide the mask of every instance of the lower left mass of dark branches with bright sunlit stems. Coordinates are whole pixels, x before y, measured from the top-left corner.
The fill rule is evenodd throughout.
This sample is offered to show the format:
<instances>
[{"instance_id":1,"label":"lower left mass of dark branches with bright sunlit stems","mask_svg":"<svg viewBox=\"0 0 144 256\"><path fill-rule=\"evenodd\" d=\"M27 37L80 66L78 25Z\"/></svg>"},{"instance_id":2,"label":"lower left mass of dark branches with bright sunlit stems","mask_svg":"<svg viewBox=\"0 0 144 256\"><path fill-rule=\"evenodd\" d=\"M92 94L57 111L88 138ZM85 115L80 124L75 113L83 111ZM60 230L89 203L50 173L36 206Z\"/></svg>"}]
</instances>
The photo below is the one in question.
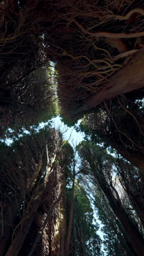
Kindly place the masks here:
<instances>
[{"instance_id":1,"label":"lower left mass of dark branches with bright sunlit stems","mask_svg":"<svg viewBox=\"0 0 144 256\"><path fill-rule=\"evenodd\" d=\"M25 238L28 232L28 237L32 237L30 227L37 214L39 216L42 212L39 217L41 224L37 223L36 230L33 224L34 230L40 233L33 240L28 239L30 242L27 243L28 247L33 244L33 252L41 230L48 222L46 217L56 216L56 205L61 200L59 181L62 176L56 160L61 146L61 134L55 129L46 129L22 138L12 148L5 148L1 159L2 255L17 255L21 250L28 249ZM32 234L34 230L32 226Z\"/></svg>"}]
</instances>

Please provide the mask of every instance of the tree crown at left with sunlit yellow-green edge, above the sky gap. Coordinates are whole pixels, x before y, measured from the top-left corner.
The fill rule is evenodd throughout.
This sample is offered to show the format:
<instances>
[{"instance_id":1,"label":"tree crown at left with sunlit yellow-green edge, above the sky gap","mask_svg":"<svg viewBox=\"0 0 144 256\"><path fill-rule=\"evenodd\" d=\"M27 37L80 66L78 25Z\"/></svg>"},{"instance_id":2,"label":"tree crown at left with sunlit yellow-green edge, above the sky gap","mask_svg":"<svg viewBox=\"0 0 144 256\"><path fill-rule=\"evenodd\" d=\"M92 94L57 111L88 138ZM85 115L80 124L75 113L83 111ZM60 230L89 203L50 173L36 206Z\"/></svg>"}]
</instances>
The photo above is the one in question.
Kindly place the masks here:
<instances>
[{"instance_id":1,"label":"tree crown at left with sunlit yellow-green edge, above the sky gap","mask_svg":"<svg viewBox=\"0 0 144 256\"><path fill-rule=\"evenodd\" d=\"M1 97L1 136L5 130L38 125L56 115L56 79L50 66L40 67L26 75L10 89L9 97ZM7 89L8 91L8 89ZM3 104L5 102L5 104Z\"/></svg>"}]
</instances>

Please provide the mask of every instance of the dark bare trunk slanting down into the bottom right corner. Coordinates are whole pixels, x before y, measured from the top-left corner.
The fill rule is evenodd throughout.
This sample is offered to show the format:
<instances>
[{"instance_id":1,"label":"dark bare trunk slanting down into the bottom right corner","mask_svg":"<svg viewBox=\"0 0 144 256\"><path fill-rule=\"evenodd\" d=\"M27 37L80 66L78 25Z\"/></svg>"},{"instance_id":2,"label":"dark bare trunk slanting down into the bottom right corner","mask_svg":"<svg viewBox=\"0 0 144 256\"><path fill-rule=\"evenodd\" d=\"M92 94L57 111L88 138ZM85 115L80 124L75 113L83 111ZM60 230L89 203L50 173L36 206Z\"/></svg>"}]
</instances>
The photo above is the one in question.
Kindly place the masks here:
<instances>
[{"instance_id":1,"label":"dark bare trunk slanting down into the bottom right corner","mask_svg":"<svg viewBox=\"0 0 144 256\"><path fill-rule=\"evenodd\" d=\"M139 230L137 230L136 226L131 222L128 214L125 212L121 200L119 199L118 193L115 188L112 189L117 194L117 199L113 195L110 185L107 183L104 174L102 172L97 172L97 170L93 169L93 173L101 190L103 190L104 194L107 197L107 200L110 203L110 206L118 218L119 222L122 224L125 234L127 234L127 240L130 246L133 248L136 256L143 256L144 252L144 239L140 234Z\"/></svg>"}]
</instances>

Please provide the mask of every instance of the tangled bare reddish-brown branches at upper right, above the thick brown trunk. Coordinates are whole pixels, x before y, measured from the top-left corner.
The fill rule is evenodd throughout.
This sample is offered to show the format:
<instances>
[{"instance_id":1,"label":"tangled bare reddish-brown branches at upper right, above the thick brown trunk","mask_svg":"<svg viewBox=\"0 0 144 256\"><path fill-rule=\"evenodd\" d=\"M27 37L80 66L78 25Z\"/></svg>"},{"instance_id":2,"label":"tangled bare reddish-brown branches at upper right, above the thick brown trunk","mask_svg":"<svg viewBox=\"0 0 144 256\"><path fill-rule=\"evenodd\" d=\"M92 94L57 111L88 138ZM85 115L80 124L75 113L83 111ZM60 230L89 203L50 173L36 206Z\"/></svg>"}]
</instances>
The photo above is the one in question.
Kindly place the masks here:
<instances>
[{"instance_id":1,"label":"tangled bare reddish-brown branches at upper right, above the thick brown trunk","mask_svg":"<svg viewBox=\"0 0 144 256\"><path fill-rule=\"evenodd\" d=\"M67 117L79 112L87 98L104 88L142 47L137 38L144 33L143 3L114 2L52 3L55 11L45 42L57 62L59 95Z\"/></svg>"}]
</instances>

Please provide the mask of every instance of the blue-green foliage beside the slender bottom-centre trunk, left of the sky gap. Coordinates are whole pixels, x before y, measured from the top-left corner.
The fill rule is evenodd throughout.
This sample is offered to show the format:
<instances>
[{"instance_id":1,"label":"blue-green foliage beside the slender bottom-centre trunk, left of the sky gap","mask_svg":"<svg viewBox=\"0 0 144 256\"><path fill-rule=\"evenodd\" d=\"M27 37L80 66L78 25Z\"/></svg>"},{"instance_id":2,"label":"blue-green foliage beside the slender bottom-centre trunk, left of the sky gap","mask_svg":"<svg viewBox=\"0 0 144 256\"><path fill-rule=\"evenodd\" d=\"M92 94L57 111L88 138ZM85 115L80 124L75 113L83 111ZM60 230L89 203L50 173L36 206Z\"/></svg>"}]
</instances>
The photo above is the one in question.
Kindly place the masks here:
<instances>
[{"instance_id":1,"label":"blue-green foliage beside the slender bottom-centre trunk, left of the sky gap","mask_svg":"<svg viewBox=\"0 0 144 256\"><path fill-rule=\"evenodd\" d=\"M99 225L93 217L93 209L85 191L75 181L74 193L74 219L71 235L70 254L73 255L74 247L77 248L77 255L103 255L101 250L101 239L97 235ZM67 189L67 222L69 223L71 189Z\"/></svg>"}]
</instances>

